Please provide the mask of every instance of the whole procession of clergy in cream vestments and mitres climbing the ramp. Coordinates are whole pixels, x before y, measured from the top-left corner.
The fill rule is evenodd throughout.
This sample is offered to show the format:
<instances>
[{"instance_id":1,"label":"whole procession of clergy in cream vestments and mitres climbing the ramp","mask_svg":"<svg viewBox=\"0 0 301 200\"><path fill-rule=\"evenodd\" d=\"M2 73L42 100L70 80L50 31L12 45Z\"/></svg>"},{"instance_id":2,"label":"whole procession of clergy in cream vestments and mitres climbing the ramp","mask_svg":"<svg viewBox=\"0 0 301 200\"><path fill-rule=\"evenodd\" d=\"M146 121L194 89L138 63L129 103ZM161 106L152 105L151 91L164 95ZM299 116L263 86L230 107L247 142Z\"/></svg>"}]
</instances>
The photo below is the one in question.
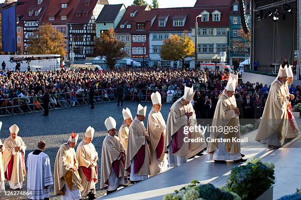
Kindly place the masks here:
<instances>
[{"instance_id":1,"label":"whole procession of clergy in cream vestments and mitres climbing the ramp","mask_svg":"<svg viewBox=\"0 0 301 200\"><path fill-rule=\"evenodd\" d=\"M255 139L269 148L278 149L300 134L290 104L295 98L288 89L292 82L292 67L281 66L271 83ZM50 187L54 187L55 195L61 200L85 197L93 200L96 199L95 184L98 182L100 188L111 194L119 188L178 167L195 156L202 156L205 151L215 163L243 163L246 160L241 153L241 143L231 140L241 137L240 110L234 97L237 86L238 75L230 74L227 86L218 97L208 131L210 140L205 140L204 131L191 128L198 126L192 105L193 86L185 86L183 96L170 107L167 119L160 112L162 98L158 92L151 94L152 107L147 120L148 107L141 104L135 116L128 108L122 110L123 124L119 131L116 120L108 117L104 122L107 135L101 153L92 144L93 127L87 128L78 146L80 136L72 132L60 146L55 163L50 163L49 156L44 153L47 147L44 141L26 156L26 144L18 136L20 129L18 125L12 125L10 136L3 144L0 141L0 192L5 191L4 180L8 181L9 189L22 189L27 175L27 198L30 200L49 199Z\"/></svg>"}]
</instances>

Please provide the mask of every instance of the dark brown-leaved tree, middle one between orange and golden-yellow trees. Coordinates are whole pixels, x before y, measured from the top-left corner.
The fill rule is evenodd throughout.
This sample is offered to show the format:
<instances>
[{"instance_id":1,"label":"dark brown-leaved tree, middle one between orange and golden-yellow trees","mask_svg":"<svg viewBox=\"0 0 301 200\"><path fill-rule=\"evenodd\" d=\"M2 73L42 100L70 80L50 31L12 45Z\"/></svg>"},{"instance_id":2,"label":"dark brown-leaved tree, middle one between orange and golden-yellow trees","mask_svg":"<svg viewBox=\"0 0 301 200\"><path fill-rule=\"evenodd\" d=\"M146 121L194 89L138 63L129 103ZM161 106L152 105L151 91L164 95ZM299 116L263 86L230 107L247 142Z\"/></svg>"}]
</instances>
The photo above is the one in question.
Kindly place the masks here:
<instances>
[{"instance_id":1,"label":"dark brown-leaved tree, middle one between orange and golden-yellow trees","mask_svg":"<svg viewBox=\"0 0 301 200\"><path fill-rule=\"evenodd\" d=\"M99 38L96 38L94 45L95 55L106 57L107 65L113 69L117 60L122 59L126 52L124 49L125 43L116 39L116 33L113 28L100 34Z\"/></svg>"}]
</instances>

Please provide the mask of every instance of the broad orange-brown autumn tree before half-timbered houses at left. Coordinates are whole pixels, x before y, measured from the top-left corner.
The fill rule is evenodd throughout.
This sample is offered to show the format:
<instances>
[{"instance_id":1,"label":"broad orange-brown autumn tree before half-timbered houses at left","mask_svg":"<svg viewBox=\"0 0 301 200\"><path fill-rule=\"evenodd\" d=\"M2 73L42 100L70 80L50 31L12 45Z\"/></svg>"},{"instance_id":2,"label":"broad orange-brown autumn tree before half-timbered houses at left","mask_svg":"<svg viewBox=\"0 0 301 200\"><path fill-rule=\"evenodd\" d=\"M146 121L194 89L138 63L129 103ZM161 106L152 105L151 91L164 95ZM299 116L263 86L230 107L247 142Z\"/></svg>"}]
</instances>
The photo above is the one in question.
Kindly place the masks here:
<instances>
[{"instance_id":1,"label":"broad orange-brown autumn tree before half-timbered houses at left","mask_svg":"<svg viewBox=\"0 0 301 200\"><path fill-rule=\"evenodd\" d=\"M62 33L56 31L53 25L43 24L29 39L26 51L30 54L60 54L64 56L66 51Z\"/></svg>"}]
</instances>

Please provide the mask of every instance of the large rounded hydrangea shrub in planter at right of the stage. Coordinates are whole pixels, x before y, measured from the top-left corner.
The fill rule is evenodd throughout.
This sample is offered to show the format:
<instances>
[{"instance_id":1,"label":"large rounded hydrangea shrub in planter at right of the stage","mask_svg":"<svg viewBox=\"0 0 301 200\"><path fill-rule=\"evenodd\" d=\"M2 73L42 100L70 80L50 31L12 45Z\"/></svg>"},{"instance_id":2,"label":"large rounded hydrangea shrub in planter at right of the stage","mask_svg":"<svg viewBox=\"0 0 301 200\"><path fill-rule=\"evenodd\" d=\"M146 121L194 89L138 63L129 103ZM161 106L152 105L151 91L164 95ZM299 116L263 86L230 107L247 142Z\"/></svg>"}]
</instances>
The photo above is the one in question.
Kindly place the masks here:
<instances>
[{"instance_id":1,"label":"large rounded hydrangea shrub in planter at right of the stage","mask_svg":"<svg viewBox=\"0 0 301 200\"><path fill-rule=\"evenodd\" d=\"M246 165L232 168L226 188L238 194L242 200L254 200L268 190L275 182L274 164L263 163L253 157Z\"/></svg>"}]
</instances>

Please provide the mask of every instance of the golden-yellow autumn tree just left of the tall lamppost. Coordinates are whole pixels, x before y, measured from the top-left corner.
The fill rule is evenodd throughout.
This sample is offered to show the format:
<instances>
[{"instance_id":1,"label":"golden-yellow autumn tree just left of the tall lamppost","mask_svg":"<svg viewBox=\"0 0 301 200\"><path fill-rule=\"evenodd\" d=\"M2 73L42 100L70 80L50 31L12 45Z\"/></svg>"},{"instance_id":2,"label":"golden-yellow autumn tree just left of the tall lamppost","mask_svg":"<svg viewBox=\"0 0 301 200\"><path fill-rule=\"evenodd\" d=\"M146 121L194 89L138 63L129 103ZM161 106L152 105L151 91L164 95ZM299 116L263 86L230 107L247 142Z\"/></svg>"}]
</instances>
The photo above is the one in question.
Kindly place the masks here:
<instances>
[{"instance_id":1,"label":"golden-yellow autumn tree just left of the tall lamppost","mask_svg":"<svg viewBox=\"0 0 301 200\"><path fill-rule=\"evenodd\" d=\"M186 33L183 37L171 35L163 40L160 56L162 60L180 60L184 65L185 58L194 56L194 43Z\"/></svg>"}]
</instances>

